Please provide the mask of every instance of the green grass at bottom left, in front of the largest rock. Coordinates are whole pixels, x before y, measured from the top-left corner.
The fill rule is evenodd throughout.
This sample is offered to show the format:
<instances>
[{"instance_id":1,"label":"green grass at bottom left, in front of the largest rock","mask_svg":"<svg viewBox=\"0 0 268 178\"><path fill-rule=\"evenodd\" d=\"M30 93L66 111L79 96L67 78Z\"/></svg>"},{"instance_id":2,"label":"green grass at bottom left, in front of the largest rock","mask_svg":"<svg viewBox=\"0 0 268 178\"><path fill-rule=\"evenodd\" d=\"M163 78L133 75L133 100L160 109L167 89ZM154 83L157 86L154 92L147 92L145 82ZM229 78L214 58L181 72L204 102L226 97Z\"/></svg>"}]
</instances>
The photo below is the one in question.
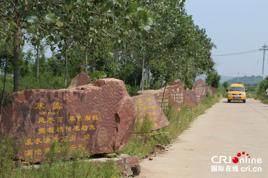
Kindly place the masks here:
<instances>
[{"instance_id":1,"label":"green grass at bottom left, in front of the largest rock","mask_svg":"<svg viewBox=\"0 0 268 178\"><path fill-rule=\"evenodd\" d=\"M60 146L58 142L52 142L49 152L43 152L40 165L15 168L12 160L16 159L15 152L21 150L20 145L21 143L14 140L13 136L7 136L7 133L1 135L1 178L111 178L113 176L119 178L121 176L122 168L118 168L113 160L106 163L91 162L87 152L83 150L70 152L68 147L60 154L56 151L60 148L57 147ZM66 155L72 159L66 159ZM34 158L29 156L28 159L31 161Z\"/></svg>"}]
</instances>

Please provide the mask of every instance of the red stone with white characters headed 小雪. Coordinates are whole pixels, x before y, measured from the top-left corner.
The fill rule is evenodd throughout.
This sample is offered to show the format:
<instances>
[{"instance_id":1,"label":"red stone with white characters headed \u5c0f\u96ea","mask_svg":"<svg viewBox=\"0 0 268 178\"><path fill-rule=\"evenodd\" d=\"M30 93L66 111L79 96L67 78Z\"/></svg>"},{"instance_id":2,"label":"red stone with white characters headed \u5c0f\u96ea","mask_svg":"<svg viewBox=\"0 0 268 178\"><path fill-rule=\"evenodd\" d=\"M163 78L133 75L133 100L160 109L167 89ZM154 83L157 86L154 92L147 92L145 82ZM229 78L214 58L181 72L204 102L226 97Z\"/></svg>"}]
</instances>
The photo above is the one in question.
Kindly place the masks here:
<instances>
[{"instance_id":1,"label":"red stone with white characters headed \u5c0f\u96ea","mask_svg":"<svg viewBox=\"0 0 268 178\"><path fill-rule=\"evenodd\" d=\"M161 88L161 90L164 90L164 88ZM181 85L174 85L166 86L166 90L169 90L174 101L184 101L184 103L187 104L188 109L196 107L198 104L196 94L188 88L185 91Z\"/></svg>"}]
</instances>

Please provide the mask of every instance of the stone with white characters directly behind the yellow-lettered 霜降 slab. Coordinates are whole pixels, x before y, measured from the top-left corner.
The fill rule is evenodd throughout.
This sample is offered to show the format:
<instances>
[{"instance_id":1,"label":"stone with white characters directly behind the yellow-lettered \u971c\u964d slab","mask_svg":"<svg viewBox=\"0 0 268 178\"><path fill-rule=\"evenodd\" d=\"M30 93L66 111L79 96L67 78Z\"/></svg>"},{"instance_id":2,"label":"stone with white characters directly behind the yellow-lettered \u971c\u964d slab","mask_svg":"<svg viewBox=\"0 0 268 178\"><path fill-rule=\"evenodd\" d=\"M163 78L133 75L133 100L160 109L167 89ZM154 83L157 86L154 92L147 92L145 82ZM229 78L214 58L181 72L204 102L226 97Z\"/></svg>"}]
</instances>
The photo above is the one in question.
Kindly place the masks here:
<instances>
[{"instance_id":1,"label":"stone with white characters directly behind the yellow-lettered \u971c\u964d slab","mask_svg":"<svg viewBox=\"0 0 268 178\"><path fill-rule=\"evenodd\" d=\"M162 102L162 98L163 98L163 92L164 92L164 90L142 90L142 91L138 91L135 94L135 96L139 96L139 95L143 95L143 94L147 94L147 95L148 94L153 94L155 96L155 99L156 99L158 105L161 106L161 102ZM164 98L163 98L163 105L162 105L162 107L164 109L166 109L170 101L172 102L173 107L175 109L180 110L180 108L183 106L182 102L176 102L176 101L174 101L172 99L172 97L171 97L171 94L170 94L169 90L166 90L165 91Z\"/></svg>"}]
</instances>

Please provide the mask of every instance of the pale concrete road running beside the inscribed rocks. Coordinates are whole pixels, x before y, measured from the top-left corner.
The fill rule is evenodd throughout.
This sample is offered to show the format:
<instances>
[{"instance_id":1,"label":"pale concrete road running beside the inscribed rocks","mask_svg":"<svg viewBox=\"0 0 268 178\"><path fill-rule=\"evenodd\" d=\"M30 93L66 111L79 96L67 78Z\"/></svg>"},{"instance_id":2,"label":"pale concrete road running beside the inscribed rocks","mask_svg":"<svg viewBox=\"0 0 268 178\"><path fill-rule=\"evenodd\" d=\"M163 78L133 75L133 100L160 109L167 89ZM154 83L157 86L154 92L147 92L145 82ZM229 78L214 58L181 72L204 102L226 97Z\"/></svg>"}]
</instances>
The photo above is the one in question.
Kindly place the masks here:
<instances>
[{"instance_id":1,"label":"pale concrete road running beside the inscribed rocks","mask_svg":"<svg viewBox=\"0 0 268 178\"><path fill-rule=\"evenodd\" d=\"M227 103L223 98L206 112L178 136L167 148L169 151L140 163L139 177L268 177L268 105L253 98L247 98L246 103ZM237 153L242 152L245 155L238 157ZM246 154L250 164L248 158L244 164L232 162L234 157L245 159ZM231 156L231 163L213 163L213 156L218 156L214 162L219 162L219 156L226 156L228 162ZM261 158L262 162L251 163L252 158ZM211 171L211 166L217 166L217 172ZM224 171L218 171L218 166L224 166ZM225 166L231 166L231 171L226 171ZM239 171L233 171L233 166L238 166ZM249 166L250 172L248 168L241 171ZM254 167L261 171L252 171Z\"/></svg>"}]
</instances>

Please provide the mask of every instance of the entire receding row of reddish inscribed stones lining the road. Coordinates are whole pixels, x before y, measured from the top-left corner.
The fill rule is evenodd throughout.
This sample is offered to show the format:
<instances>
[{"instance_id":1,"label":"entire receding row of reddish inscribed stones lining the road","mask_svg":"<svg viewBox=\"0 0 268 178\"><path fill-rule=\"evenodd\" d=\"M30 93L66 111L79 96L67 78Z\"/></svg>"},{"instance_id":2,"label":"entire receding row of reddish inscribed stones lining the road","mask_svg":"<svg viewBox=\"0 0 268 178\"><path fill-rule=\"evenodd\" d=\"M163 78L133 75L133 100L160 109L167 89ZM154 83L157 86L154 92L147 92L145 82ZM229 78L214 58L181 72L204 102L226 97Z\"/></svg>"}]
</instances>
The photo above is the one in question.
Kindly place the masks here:
<instances>
[{"instance_id":1,"label":"entire receding row of reddish inscribed stones lining the road","mask_svg":"<svg viewBox=\"0 0 268 178\"><path fill-rule=\"evenodd\" d=\"M160 90L144 90L134 97L128 95L124 82L108 78L91 79L81 72L68 89L23 90L15 103L3 109L0 131L14 132L20 139L22 160L38 162L50 151L53 141L69 142L70 150L87 150L89 153L119 152L128 143L133 129L145 119L152 121L151 130L169 125L161 109L172 102L180 110L183 102L188 108L203 101L205 91L213 96L217 89L206 88L198 79L194 88L184 90L180 80ZM138 123L135 124L135 123ZM61 148L55 149L61 152Z\"/></svg>"}]
</instances>

